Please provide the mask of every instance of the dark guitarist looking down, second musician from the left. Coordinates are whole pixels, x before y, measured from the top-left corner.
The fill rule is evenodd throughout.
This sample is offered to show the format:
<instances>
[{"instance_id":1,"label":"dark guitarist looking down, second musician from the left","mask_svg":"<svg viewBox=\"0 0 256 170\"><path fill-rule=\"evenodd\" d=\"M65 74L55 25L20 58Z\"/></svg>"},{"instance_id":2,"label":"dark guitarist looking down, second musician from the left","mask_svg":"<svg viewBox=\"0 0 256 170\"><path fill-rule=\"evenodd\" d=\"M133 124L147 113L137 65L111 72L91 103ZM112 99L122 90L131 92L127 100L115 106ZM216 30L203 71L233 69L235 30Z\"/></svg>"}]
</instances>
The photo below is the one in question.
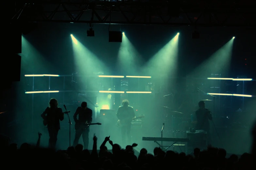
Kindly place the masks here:
<instances>
[{"instance_id":1,"label":"dark guitarist looking down, second musician from the left","mask_svg":"<svg viewBox=\"0 0 256 170\"><path fill-rule=\"evenodd\" d=\"M77 119L78 115L78 119ZM78 144L82 135L84 142L84 149L88 149L89 145L89 125L92 122L92 110L87 107L87 102L83 101L81 107L78 107L74 114L75 121L75 139L73 146Z\"/></svg>"}]
</instances>

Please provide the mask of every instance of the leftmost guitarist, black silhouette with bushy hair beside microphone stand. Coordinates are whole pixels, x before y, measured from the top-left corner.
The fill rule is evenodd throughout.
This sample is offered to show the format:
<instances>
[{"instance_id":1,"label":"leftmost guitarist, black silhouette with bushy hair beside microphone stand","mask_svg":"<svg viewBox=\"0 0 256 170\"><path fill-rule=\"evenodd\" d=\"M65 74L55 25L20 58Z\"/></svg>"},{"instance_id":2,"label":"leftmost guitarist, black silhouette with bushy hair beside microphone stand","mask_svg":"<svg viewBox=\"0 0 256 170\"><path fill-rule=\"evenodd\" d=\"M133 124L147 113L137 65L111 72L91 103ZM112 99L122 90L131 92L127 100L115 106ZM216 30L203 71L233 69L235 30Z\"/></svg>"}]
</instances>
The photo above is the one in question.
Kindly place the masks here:
<instances>
[{"instance_id":1,"label":"leftmost guitarist, black silhouette with bushy hair beside microphone stand","mask_svg":"<svg viewBox=\"0 0 256 170\"><path fill-rule=\"evenodd\" d=\"M50 148L56 147L57 135L60 130L59 121L64 119L64 113L62 109L58 107L58 101L54 98L50 99L49 107L41 114L41 117L44 120L44 125L47 125L49 132L49 146Z\"/></svg>"}]
</instances>

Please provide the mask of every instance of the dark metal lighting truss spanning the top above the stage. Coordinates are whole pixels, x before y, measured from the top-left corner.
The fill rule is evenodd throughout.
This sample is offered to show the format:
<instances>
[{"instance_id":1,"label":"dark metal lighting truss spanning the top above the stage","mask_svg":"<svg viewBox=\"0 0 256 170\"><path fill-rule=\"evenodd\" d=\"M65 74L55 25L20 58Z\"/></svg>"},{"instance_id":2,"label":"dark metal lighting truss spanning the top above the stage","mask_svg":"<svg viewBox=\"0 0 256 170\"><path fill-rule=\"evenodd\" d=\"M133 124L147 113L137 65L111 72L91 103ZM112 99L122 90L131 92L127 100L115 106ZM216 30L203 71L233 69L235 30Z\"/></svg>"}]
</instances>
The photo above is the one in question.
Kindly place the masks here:
<instances>
[{"instance_id":1,"label":"dark metal lighting truss spanning the top above the stage","mask_svg":"<svg viewBox=\"0 0 256 170\"><path fill-rule=\"evenodd\" d=\"M256 27L256 4L139 0L16 3L11 22Z\"/></svg>"}]
</instances>

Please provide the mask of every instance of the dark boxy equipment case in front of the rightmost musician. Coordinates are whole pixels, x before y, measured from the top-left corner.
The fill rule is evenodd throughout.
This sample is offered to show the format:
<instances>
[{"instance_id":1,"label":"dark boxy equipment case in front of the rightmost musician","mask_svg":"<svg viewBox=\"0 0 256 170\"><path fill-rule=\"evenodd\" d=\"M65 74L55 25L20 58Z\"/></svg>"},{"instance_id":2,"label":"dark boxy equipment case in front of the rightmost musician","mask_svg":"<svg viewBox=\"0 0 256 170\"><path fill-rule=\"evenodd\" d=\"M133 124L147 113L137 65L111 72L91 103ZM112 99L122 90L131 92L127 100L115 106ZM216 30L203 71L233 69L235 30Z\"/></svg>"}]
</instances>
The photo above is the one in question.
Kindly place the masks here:
<instances>
[{"instance_id":1,"label":"dark boxy equipment case in front of the rightmost musician","mask_svg":"<svg viewBox=\"0 0 256 170\"><path fill-rule=\"evenodd\" d=\"M187 138L189 139L189 142L187 143L188 147L198 147L203 148L207 147L207 132L206 131L196 131L191 132L187 131Z\"/></svg>"}]
</instances>

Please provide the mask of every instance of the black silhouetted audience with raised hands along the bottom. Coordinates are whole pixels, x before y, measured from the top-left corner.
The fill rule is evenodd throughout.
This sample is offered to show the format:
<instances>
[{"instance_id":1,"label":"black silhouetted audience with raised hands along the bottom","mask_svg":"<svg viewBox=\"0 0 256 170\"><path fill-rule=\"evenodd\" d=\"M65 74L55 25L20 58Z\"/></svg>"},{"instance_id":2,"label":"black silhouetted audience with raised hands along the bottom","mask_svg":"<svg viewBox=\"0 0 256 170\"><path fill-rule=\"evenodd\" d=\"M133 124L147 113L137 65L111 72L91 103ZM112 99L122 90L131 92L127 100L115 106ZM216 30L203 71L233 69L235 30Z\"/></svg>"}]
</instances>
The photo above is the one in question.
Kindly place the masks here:
<instances>
[{"instance_id":1,"label":"black silhouetted audience with raised hands along the bottom","mask_svg":"<svg viewBox=\"0 0 256 170\"><path fill-rule=\"evenodd\" d=\"M255 128L255 127L254 127ZM255 131L255 129L253 129ZM255 135L253 133L253 135ZM97 152L98 138L93 137L93 148L83 150L83 145L68 147L67 150L40 148L40 136L38 133L36 146L24 143L20 148L16 144L10 144L8 136L0 135L1 166L2 169L61 169L61 170L255 170L255 152L244 153L238 158L231 155L226 158L226 150L222 148L208 147L207 150L195 148L193 155L164 152L160 147L155 147L154 155L142 148L138 158L134 154L137 144L127 145L122 149L120 145L113 144L110 136L105 140ZM112 146L108 150L106 143ZM253 144L255 148L255 141Z\"/></svg>"}]
</instances>

